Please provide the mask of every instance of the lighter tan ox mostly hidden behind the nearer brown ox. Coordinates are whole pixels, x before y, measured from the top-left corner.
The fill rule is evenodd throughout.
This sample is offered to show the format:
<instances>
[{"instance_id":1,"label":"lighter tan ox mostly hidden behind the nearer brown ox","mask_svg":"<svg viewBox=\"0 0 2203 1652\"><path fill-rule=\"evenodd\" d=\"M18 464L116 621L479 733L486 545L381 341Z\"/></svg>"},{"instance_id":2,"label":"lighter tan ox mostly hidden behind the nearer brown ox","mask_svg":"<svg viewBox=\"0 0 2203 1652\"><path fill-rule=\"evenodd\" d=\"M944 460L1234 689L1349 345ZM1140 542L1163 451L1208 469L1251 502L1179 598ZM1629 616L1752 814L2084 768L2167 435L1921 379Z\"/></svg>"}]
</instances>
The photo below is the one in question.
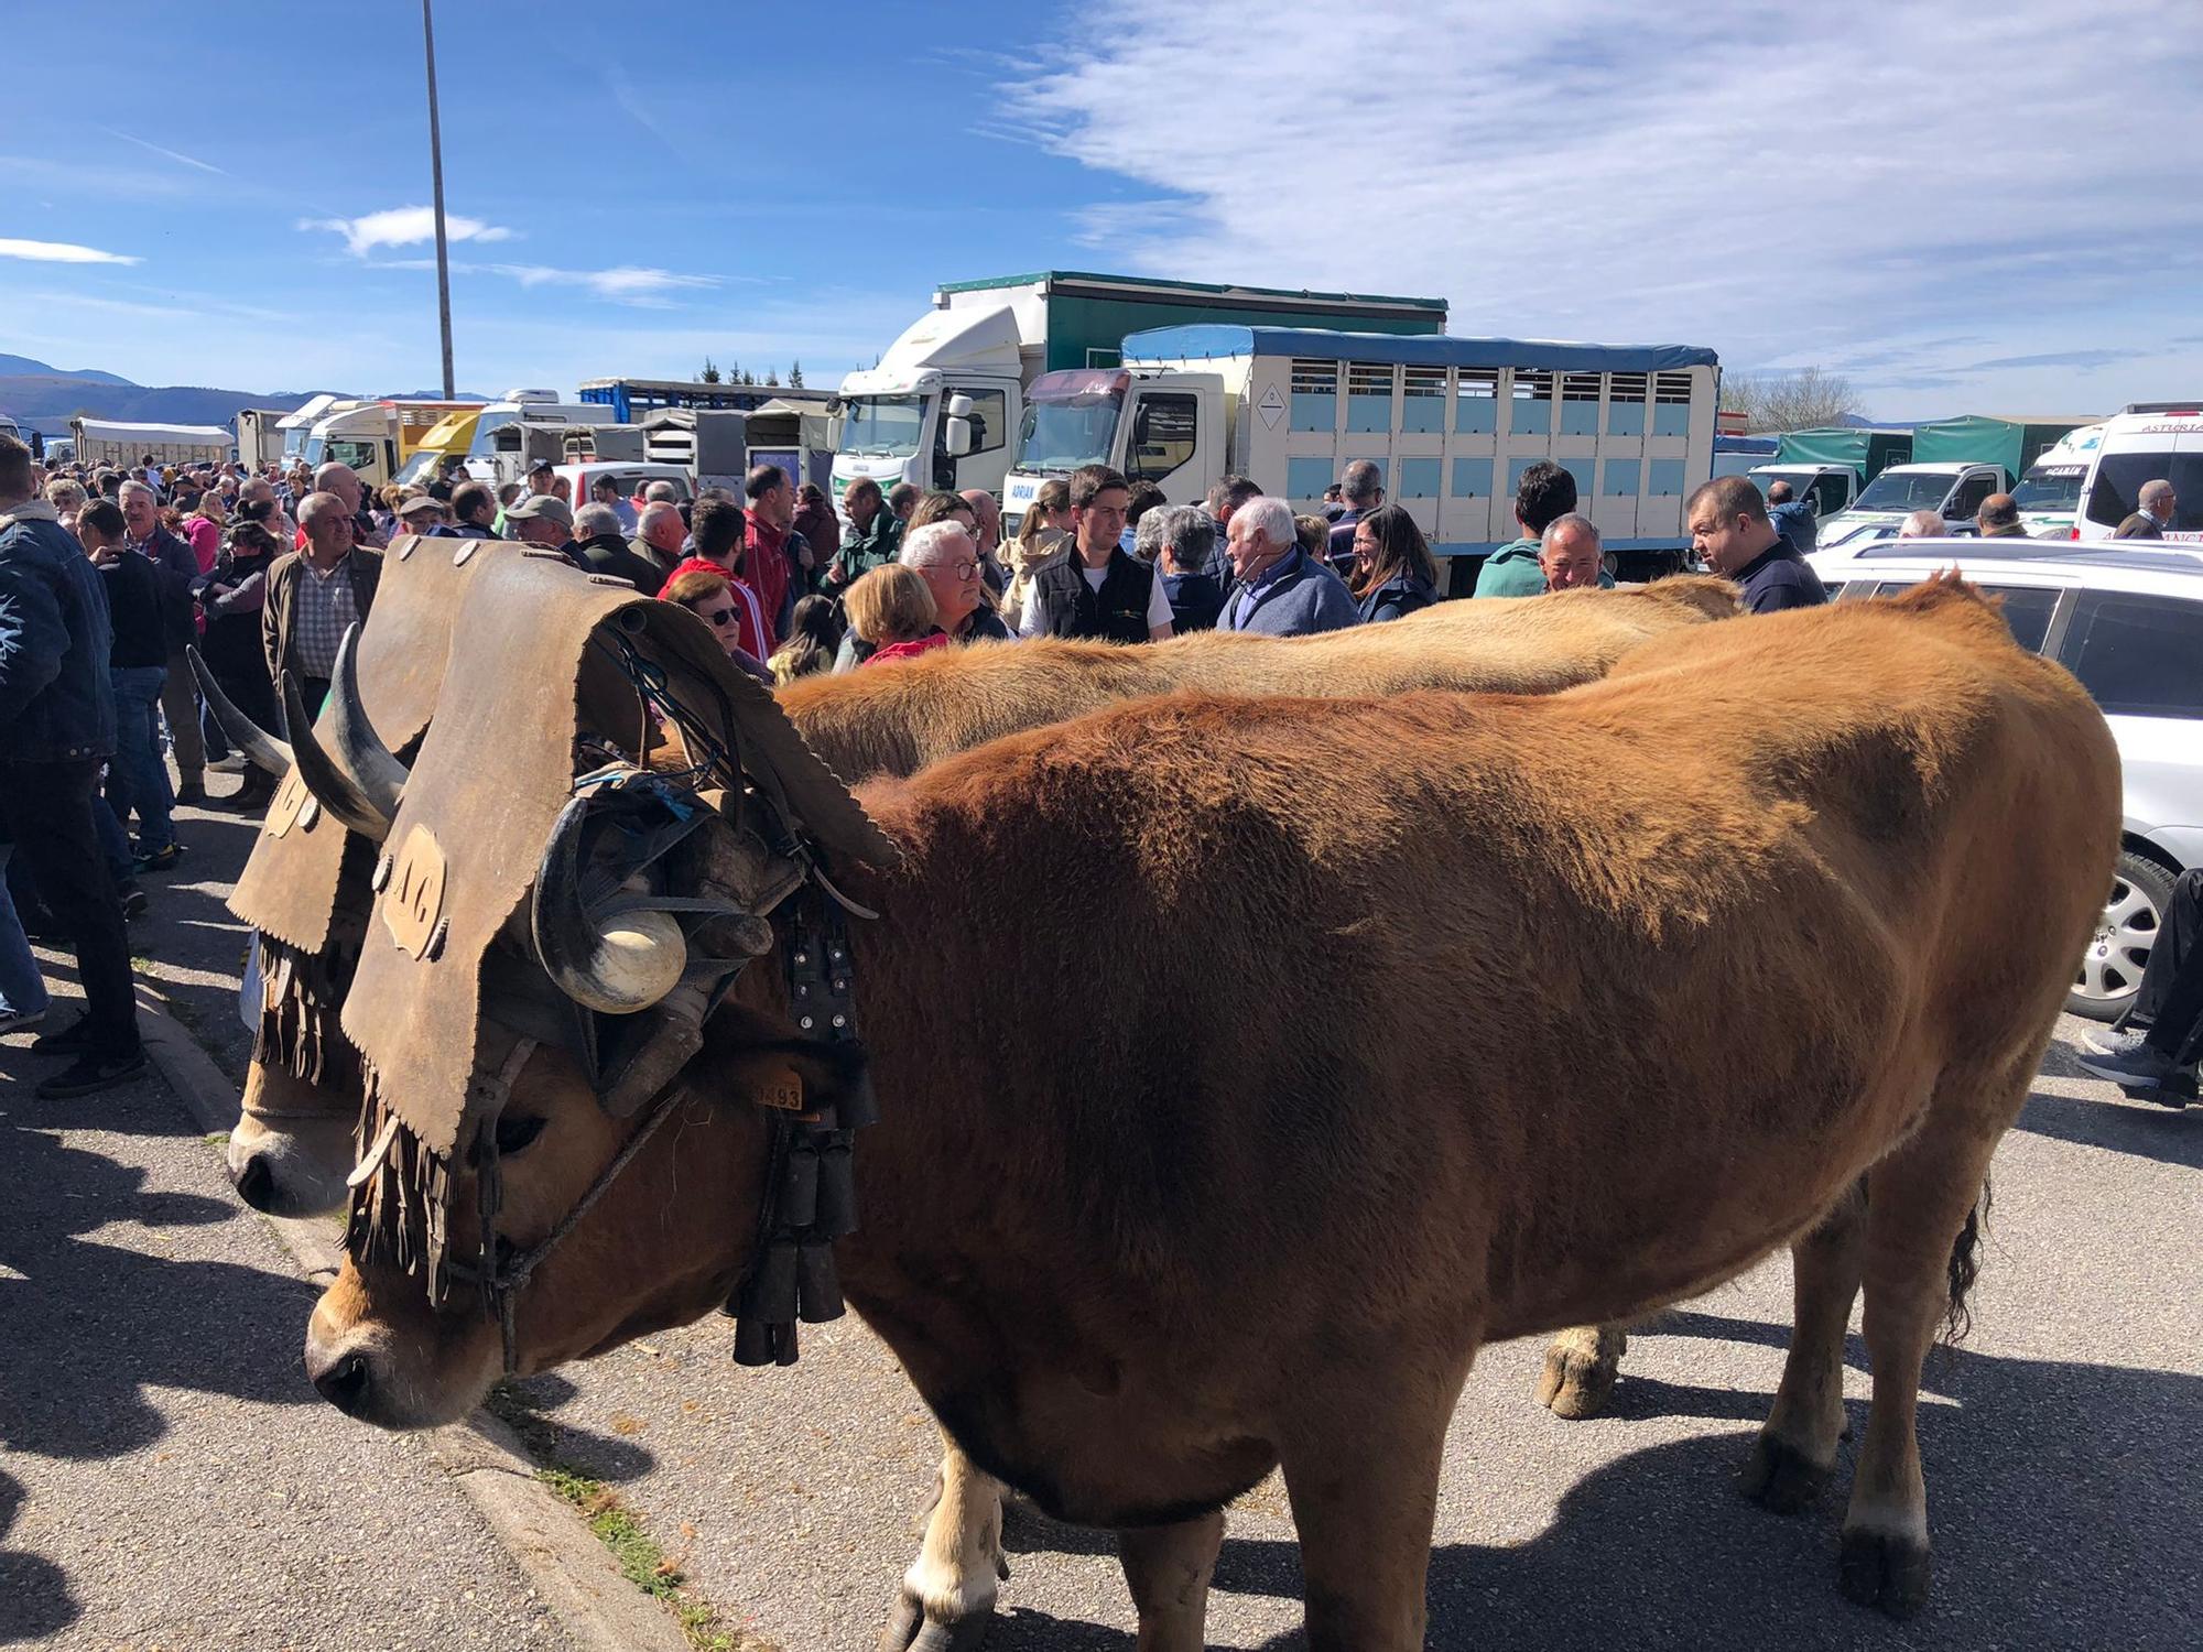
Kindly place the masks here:
<instances>
[{"instance_id":1,"label":"lighter tan ox mostly hidden behind the nearer brown ox","mask_svg":"<svg viewBox=\"0 0 2203 1652\"><path fill-rule=\"evenodd\" d=\"M1304 639L1203 632L1150 648L1044 639L954 650L806 678L778 698L811 747L844 780L861 782L910 775L1002 733L1181 687L1324 696L1414 687L1547 694L1597 678L1652 637L1734 615L1732 584L1683 577L1643 590L1441 604L1390 626ZM370 861L357 852L348 861L348 888L361 901ZM280 949L269 956L284 958ZM333 958L286 958L284 967L295 967L313 991L304 993L304 1007L289 1009L284 1024L269 1024L231 1132L238 1194L273 1214L335 1209L352 1167L361 1099L357 1055L333 1022L357 960L357 936L348 934ZM262 1053L282 1059L267 1062ZM1619 1355L1617 1330L1564 1333L1538 1401L1562 1416L1595 1414L1613 1390ZM945 1443L941 1482L925 1542L903 1579L899 1615L910 1632L921 1617L934 1623L985 1617L1002 1571L998 1489L974 1471L954 1441Z\"/></svg>"}]
</instances>

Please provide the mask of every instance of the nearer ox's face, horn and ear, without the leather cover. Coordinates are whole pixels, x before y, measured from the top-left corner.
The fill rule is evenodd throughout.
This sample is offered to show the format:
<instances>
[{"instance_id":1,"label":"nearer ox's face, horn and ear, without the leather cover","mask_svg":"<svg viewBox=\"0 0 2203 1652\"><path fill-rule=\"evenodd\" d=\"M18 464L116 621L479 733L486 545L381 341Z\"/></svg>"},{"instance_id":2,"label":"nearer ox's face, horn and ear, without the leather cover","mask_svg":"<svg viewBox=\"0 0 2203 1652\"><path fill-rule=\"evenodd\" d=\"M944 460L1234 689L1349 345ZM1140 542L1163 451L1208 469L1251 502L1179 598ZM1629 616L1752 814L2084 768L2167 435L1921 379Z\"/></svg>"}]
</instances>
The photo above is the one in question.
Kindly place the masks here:
<instances>
[{"instance_id":1,"label":"nearer ox's face, horn and ear, without the leather cover","mask_svg":"<svg viewBox=\"0 0 2203 1652\"><path fill-rule=\"evenodd\" d=\"M408 1192L419 1145L370 1097L346 1264L306 1341L308 1374L348 1414L447 1423L507 1370L727 1304L758 1231L769 1108L835 1106L861 1084L846 1048L802 1035L767 971L723 996L775 949L767 914L804 863L720 808L683 833L668 800L679 791L623 771L590 778L560 815L485 967L476 1070L496 1068L482 1088L502 1093L432 1194L434 1240ZM489 1289L500 1271L507 1302Z\"/></svg>"}]
</instances>

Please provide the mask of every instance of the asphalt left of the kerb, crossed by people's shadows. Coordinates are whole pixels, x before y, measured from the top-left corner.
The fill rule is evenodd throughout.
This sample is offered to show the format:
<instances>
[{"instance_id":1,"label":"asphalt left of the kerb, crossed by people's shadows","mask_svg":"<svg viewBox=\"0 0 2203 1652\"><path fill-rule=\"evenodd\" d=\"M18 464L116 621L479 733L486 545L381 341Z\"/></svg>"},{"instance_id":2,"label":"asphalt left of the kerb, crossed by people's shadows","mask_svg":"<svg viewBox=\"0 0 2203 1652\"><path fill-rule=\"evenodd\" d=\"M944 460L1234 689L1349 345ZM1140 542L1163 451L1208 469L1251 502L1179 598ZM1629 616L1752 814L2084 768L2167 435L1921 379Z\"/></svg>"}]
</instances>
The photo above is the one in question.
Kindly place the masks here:
<instances>
[{"instance_id":1,"label":"asphalt left of the kerb, crossed by people's shadows","mask_svg":"<svg viewBox=\"0 0 2203 1652\"><path fill-rule=\"evenodd\" d=\"M26 1046L0 1042L0 1645L568 1645L421 1443L335 1427L300 1368L315 1286L161 1079L40 1101Z\"/></svg>"}]
</instances>

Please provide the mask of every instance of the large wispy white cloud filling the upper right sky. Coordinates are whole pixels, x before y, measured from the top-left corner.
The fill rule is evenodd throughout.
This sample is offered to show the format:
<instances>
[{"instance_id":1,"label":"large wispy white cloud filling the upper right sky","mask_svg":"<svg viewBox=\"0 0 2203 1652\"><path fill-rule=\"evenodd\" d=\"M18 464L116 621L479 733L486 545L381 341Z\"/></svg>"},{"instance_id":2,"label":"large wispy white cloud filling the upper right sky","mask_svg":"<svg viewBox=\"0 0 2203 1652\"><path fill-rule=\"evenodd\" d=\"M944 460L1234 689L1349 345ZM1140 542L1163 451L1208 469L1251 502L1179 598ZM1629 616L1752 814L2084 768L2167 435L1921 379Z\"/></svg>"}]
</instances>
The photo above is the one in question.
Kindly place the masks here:
<instances>
[{"instance_id":1,"label":"large wispy white cloud filling the upper right sky","mask_svg":"<svg viewBox=\"0 0 2203 1652\"><path fill-rule=\"evenodd\" d=\"M1961 330L2022 357L2128 344L2203 278L2190 4L1577 0L1496 26L1469 0L1106 0L1077 20L1106 44L1066 42L1002 119L1130 181L1075 209L1104 269L1443 295L1456 333L1736 366ZM1159 119L1218 40L1227 84Z\"/></svg>"}]
</instances>

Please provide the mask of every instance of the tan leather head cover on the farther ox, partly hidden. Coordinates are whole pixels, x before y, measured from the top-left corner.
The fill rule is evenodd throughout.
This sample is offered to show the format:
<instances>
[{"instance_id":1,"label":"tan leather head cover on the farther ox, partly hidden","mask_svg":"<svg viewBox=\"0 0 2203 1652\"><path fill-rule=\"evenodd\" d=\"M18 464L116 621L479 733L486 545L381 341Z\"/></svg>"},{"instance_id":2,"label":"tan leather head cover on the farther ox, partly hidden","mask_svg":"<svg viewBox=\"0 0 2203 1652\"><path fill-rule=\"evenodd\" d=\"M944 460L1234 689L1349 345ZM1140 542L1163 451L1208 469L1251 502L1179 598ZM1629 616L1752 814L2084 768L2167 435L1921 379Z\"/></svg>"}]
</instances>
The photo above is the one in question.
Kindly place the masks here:
<instances>
[{"instance_id":1,"label":"tan leather head cover on the farther ox, partly hidden","mask_svg":"<svg viewBox=\"0 0 2203 1652\"><path fill-rule=\"evenodd\" d=\"M460 551L467 555L460 562ZM460 597L474 575L518 546L485 540L403 535L383 553L375 610L359 632L359 698L383 745L403 753L421 738L443 687ZM328 736L328 711L315 729ZM350 833L315 806L293 769L275 791L253 855L229 894L229 910L275 941L313 956L330 943L341 894L363 905L368 892L344 890L344 844ZM357 857L355 857L357 859Z\"/></svg>"}]
</instances>

